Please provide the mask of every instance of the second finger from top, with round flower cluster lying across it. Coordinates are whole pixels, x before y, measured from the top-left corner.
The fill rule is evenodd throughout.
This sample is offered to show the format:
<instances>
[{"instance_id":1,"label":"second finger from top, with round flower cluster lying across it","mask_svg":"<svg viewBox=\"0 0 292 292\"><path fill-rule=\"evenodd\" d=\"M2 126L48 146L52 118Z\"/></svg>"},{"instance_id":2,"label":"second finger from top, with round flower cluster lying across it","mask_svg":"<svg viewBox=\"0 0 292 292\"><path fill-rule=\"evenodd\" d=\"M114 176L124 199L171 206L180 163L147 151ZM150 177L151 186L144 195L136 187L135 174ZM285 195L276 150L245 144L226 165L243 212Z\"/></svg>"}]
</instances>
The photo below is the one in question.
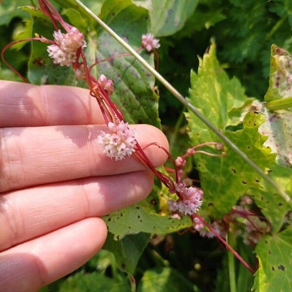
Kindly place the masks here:
<instances>
[{"instance_id":1,"label":"second finger from top, with round flower cluster lying across it","mask_svg":"<svg viewBox=\"0 0 292 292\"><path fill-rule=\"evenodd\" d=\"M168 147L159 129L148 125L130 127L136 129L135 136L142 146L158 142ZM106 126L0 129L0 190L145 169L132 156L117 162L107 157L96 142L100 130L106 130ZM167 158L157 146L145 152L154 166Z\"/></svg>"}]
</instances>

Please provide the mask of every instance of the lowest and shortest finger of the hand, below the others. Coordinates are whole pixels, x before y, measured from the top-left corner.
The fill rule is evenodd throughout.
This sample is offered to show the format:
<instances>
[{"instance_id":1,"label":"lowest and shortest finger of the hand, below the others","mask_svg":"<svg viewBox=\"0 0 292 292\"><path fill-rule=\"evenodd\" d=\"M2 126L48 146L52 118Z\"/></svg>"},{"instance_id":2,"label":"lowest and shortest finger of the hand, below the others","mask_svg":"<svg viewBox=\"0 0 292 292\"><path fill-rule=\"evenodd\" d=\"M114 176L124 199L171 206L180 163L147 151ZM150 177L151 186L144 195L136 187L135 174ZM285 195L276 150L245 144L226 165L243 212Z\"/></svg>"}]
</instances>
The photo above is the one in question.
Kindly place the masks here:
<instances>
[{"instance_id":1,"label":"lowest and shortest finger of the hand, below the others","mask_svg":"<svg viewBox=\"0 0 292 292\"><path fill-rule=\"evenodd\" d=\"M88 261L106 236L103 220L88 218L2 252L0 291L37 291Z\"/></svg>"}]
</instances>

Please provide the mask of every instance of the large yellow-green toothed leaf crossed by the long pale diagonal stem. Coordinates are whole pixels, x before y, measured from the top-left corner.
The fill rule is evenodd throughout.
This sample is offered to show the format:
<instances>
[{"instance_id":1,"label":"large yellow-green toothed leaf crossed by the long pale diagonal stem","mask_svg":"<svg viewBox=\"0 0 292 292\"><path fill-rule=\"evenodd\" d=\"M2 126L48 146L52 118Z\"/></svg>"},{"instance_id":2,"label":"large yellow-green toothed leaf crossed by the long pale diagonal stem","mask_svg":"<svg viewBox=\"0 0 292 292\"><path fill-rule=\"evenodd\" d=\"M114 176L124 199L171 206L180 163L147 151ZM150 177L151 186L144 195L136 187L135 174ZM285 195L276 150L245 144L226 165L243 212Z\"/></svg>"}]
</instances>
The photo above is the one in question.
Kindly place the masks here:
<instances>
[{"instance_id":1,"label":"large yellow-green toothed leaf crossed by the long pale diagonal stem","mask_svg":"<svg viewBox=\"0 0 292 292\"><path fill-rule=\"evenodd\" d=\"M242 108L251 101L245 96L238 80L229 79L220 68L214 44L209 53L200 59L198 74L191 73L189 101L262 169L274 162L275 155L270 154L269 148L262 146L266 137L257 131L265 120L262 114L249 112L244 118L242 130L232 132L226 129L239 123ZM186 118L193 145L208 141L220 142L192 113L188 112ZM205 147L204 150L214 152L211 147ZM252 167L231 148L226 147L226 153L222 158L195 155L204 191L202 210L215 218L221 218L227 213L249 188L262 188L260 177Z\"/></svg>"}]
</instances>

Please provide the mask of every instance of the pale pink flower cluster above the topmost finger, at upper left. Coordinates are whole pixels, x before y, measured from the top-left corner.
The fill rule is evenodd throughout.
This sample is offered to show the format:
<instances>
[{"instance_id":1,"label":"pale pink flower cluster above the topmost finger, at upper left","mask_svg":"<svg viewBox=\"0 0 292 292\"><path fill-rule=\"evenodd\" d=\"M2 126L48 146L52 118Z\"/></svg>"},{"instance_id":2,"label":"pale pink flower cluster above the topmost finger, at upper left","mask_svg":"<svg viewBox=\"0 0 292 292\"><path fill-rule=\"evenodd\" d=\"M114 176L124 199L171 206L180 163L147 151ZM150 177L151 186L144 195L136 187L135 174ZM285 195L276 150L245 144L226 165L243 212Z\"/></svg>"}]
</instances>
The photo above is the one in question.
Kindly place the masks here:
<instances>
[{"instance_id":1,"label":"pale pink flower cluster above the topmost finger, at upper left","mask_svg":"<svg viewBox=\"0 0 292 292\"><path fill-rule=\"evenodd\" d=\"M77 28L72 27L70 32L63 34L60 30L54 32L55 44L48 46L48 53L55 64L70 66L76 61L76 52L80 47L86 47L84 35Z\"/></svg>"}]
</instances>

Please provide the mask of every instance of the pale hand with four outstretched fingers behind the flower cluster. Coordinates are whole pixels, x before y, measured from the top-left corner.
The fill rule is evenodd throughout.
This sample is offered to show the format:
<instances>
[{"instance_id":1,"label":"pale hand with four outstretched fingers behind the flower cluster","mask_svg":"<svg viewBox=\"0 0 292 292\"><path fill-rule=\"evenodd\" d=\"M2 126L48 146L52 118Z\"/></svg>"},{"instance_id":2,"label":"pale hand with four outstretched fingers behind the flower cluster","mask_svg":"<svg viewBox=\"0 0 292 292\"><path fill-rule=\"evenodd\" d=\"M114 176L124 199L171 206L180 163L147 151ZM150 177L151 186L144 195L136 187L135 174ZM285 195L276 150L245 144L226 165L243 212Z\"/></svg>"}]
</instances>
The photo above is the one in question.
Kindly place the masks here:
<instances>
[{"instance_id":1,"label":"pale hand with four outstretched fingers behind the flower cluster","mask_svg":"<svg viewBox=\"0 0 292 292\"><path fill-rule=\"evenodd\" d=\"M141 146L164 134L130 126ZM100 218L143 200L153 176L133 157L110 160L89 91L0 81L0 291L32 292L71 273L103 246ZM156 167L164 151L145 150Z\"/></svg>"}]
</instances>

